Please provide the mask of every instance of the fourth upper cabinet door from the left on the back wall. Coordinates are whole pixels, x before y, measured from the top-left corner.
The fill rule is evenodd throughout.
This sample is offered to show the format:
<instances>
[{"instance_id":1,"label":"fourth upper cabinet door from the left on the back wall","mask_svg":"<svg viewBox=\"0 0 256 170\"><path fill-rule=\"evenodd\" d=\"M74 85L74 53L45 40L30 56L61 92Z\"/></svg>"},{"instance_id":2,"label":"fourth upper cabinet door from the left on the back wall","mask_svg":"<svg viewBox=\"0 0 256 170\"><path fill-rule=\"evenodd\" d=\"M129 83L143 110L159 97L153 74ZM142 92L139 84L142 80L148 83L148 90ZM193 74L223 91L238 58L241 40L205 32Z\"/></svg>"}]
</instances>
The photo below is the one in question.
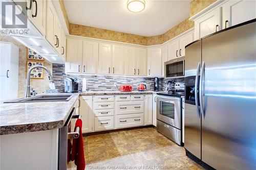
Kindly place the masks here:
<instances>
[{"instance_id":1,"label":"fourth upper cabinet door from the left on the back wall","mask_svg":"<svg viewBox=\"0 0 256 170\"><path fill-rule=\"evenodd\" d=\"M123 55L124 46L123 45L113 45L112 53L112 74L113 75L123 75Z\"/></svg>"}]
</instances>

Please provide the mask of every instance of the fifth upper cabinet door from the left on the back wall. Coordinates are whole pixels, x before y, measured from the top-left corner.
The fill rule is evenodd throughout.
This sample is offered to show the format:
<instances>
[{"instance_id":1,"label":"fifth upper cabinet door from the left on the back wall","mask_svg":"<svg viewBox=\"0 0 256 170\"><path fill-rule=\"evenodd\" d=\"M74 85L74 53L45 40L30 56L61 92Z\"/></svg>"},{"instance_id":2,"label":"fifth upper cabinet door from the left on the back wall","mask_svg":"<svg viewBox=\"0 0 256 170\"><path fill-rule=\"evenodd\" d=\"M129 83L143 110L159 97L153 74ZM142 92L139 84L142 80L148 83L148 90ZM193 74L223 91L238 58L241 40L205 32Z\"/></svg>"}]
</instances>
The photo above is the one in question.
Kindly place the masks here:
<instances>
[{"instance_id":1,"label":"fifth upper cabinet door from the left on the back wall","mask_svg":"<svg viewBox=\"0 0 256 170\"><path fill-rule=\"evenodd\" d=\"M125 48L125 75L127 76L135 76L138 74L138 70L136 70L136 48L135 47L126 47ZM137 72L136 72L137 71Z\"/></svg>"}]
</instances>

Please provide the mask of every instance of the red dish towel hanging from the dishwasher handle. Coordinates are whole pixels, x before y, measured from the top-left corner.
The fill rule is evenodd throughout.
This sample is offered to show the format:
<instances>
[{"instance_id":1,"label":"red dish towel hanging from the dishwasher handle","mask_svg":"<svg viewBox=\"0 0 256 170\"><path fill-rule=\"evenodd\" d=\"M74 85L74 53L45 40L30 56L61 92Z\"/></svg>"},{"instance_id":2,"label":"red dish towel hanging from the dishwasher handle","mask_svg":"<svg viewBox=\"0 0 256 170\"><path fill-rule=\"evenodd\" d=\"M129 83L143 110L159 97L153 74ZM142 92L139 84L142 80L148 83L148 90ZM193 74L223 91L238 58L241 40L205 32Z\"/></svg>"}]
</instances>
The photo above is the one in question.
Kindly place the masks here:
<instances>
[{"instance_id":1,"label":"red dish towel hanging from the dishwasher handle","mask_svg":"<svg viewBox=\"0 0 256 170\"><path fill-rule=\"evenodd\" d=\"M73 146L72 146L72 153L71 153L71 160L75 160L75 164L77 166L77 170L84 170L86 168L86 160L84 159L83 153L83 138L82 138L82 120L76 120L76 127L80 128L79 137L73 139Z\"/></svg>"}]
</instances>

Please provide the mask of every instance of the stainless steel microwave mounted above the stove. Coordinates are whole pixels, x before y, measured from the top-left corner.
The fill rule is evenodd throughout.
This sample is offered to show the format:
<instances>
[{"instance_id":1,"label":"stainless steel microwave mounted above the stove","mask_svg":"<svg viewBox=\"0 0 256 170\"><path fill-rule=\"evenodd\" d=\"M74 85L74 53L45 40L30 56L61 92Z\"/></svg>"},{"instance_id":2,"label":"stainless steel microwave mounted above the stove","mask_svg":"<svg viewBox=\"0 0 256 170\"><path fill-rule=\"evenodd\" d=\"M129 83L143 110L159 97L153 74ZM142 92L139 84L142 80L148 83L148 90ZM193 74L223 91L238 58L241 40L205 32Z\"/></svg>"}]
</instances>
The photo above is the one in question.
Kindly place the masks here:
<instances>
[{"instance_id":1,"label":"stainless steel microwave mounted above the stove","mask_svg":"<svg viewBox=\"0 0 256 170\"><path fill-rule=\"evenodd\" d=\"M165 78L183 78L185 76L185 57L164 62Z\"/></svg>"}]
</instances>

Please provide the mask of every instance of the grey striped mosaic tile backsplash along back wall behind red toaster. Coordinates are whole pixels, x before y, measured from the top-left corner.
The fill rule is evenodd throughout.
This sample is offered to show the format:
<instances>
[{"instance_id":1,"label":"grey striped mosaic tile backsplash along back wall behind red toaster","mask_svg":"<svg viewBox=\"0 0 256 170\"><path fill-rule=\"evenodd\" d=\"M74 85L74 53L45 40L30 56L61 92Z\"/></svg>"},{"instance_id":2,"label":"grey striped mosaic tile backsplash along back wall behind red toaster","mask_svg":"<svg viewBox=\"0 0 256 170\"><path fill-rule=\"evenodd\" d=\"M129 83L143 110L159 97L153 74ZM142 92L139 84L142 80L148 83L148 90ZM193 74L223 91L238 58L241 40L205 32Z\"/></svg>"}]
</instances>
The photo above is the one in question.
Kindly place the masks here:
<instances>
[{"instance_id":1,"label":"grey striped mosaic tile backsplash along back wall behind red toaster","mask_svg":"<svg viewBox=\"0 0 256 170\"><path fill-rule=\"evenodd\" d=\"M140 83L144 83L148 90L154 90L154 78L140 78L140 77L117 77L117 76L83 76L83 75L66 75L64 64L53 64L53 80L55 87L59 91L64 90L64 78L75 77L79 80L78 90L82 90L82 79L87 80L87 90L94 91L116 91L117 88L113 85L117 83L117 86L129 84L133 86L133 89L137 89Z\"/></svg>"}]
</instances>

